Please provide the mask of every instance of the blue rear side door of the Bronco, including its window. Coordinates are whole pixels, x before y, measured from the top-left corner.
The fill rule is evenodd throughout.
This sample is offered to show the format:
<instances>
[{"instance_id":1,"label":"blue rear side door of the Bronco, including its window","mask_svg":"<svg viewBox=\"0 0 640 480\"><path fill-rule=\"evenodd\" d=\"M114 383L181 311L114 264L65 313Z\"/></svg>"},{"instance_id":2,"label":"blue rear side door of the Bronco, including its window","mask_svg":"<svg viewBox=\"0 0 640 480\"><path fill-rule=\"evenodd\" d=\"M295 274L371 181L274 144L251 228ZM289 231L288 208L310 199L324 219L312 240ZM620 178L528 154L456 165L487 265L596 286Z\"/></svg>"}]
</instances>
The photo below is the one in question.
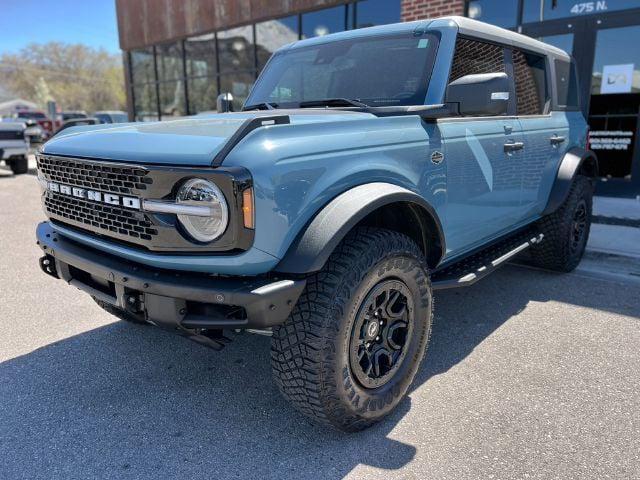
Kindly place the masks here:
<instances>
[{"instance_id":1,"label":"blue rear side door of the Bronco, including its window","mask_svg":"<svg viewBox=\"0 0 640 480\"><path fill-rule=\"evenodd\" d=\"M512 71L516 113L524 135L522 216L533 219L544 210L560 160L569 144L566 112L551 111L552 66L544 56L514 49Z\"/></svg>"}]
</instances>

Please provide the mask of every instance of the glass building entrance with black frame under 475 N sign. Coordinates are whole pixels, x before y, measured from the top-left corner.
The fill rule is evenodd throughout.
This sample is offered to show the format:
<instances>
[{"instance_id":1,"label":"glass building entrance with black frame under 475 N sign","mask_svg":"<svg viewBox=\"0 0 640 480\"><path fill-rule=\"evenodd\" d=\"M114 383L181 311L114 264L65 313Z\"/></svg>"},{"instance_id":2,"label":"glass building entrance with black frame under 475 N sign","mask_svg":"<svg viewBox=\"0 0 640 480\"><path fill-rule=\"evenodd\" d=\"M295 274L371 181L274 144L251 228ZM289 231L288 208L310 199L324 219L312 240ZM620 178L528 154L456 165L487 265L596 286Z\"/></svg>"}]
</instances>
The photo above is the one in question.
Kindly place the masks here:
<instances>
[{"instance_id":1,"label":"glass building entrance with black frame under 475 N sign","mask_svg":"<svg viewBox=\"0 0 640 480\"><path fill-rule=\"evenodd\" d=\"M600 164L597 194L640 195L640 11L526 24L523 33L576 59L590 148Z\"/></svg>"}]
</instances>

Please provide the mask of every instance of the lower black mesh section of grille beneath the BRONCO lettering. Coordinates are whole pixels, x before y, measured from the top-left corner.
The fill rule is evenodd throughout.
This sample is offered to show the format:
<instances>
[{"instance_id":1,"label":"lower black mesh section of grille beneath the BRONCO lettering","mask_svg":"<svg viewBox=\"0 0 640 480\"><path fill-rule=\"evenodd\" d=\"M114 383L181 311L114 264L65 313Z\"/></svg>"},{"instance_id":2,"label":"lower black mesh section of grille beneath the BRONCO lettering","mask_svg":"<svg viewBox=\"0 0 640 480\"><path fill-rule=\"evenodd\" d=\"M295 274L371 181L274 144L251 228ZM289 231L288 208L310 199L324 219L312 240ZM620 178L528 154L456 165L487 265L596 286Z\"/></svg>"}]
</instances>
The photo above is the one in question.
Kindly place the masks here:
<instances>
[{"instance_id":1,"label":"lower black mesh section of grille beneath the BRONCO lettering","mask_svg":"<svg viewBox=\"0 0 640 480\"><path fill-rule=\"evenodd\" d=\"M141 212L87 202L57 193L47 195L44 204L50 215L77 222L92 230L99 229L142 240L151 240L158 234L149 218Z\"/></svg>"}]
</instances>

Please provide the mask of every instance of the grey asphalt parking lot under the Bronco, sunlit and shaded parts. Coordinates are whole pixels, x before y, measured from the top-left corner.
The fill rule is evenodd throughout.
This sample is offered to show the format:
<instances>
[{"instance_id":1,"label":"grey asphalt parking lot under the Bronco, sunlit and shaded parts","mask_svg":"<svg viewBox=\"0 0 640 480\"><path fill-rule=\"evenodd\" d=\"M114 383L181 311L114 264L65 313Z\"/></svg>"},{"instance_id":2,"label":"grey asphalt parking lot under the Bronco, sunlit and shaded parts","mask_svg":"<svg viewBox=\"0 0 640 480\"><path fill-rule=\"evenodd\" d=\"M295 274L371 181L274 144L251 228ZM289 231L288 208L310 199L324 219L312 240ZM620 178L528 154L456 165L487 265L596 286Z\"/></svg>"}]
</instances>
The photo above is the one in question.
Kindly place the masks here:
<instances>
[{"instance_id":1,"label":"grey asphalt parking lot under the Bronco, sunlit and shaded parts","mask_svg":"<svg viewBox=\"0 0 640 480\"><path fill-rule=\"evenodd\" d=\"M640 282L508 266L436 296L391 418L344 435L213 352L42 274L33 175L0 171L0 478L639 478ZM622 277L620 277L622 278Z\"/></svg>"}]
</instances>

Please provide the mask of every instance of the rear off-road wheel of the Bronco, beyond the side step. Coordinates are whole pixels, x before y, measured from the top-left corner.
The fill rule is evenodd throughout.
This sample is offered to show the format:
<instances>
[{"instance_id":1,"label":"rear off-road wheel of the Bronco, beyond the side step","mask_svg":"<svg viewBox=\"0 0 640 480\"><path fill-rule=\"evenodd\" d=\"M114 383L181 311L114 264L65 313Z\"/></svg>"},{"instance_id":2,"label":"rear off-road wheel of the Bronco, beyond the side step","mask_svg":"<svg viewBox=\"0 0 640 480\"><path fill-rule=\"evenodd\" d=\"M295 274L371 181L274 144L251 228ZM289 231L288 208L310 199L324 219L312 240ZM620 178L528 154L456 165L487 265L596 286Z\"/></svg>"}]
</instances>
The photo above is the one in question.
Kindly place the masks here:
<instances>
[{"instance_id":1,"label":"rear off-road wheel of the Bronco, beyond the side step","mask_svg":"<svg viewBox=\"0 0 640 480\"><path fill-rule=\"evenodd\" d=\"M540 244L531 247L531 263L557 272L574 270L582 259L589 239L592 205L593 183L591 179L577 175L562 206L538 222L538 228L544 234L544 238ZM576 241L576 217L582 215L582 230L579 240Z\"/></svg>"}]
</instances>

